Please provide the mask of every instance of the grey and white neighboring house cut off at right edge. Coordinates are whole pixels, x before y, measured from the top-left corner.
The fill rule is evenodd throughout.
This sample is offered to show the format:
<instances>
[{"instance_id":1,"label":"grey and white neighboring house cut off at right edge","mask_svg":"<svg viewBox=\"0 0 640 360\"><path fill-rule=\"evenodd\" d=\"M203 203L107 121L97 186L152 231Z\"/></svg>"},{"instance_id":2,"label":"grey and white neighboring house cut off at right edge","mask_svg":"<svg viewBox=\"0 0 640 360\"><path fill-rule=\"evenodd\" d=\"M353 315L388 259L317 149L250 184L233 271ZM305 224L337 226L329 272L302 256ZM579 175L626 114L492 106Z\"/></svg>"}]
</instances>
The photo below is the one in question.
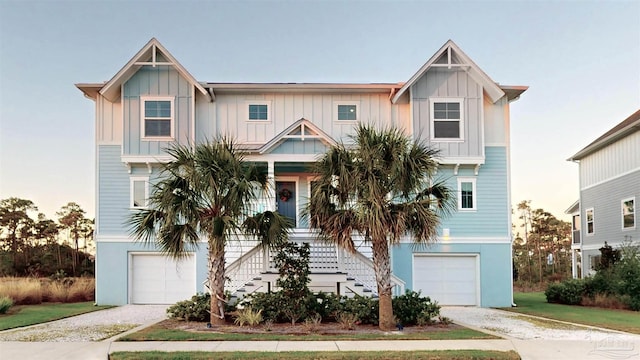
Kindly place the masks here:
<instances>
[{"instance_id":1,"label":"grey and white neighboring house cut off at right edge","mask_svg":"<svg viewBox=\"0 0 640 360\"><path fill-rule=\"evenodd\" d=\"M605 241L640 241L640 110L568 159L578 163L580 200L573 216L573 276L594 271Z\"/></svg>"}]
</instances>

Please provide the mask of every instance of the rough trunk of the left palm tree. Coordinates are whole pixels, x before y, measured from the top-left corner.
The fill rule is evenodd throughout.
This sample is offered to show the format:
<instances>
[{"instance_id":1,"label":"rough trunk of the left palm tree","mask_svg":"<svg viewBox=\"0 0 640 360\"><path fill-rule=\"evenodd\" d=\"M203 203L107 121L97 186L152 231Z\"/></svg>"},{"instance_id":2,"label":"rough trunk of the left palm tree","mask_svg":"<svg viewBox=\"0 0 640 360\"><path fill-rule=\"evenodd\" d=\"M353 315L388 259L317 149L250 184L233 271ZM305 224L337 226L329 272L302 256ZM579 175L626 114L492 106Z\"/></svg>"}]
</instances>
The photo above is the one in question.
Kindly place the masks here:
<instances>
[{"instance_id":1,"label":"rough trunk of the left palm tree","mask_svg":"<svg viewBox=\"0 0 640 360\"><path fill-rule=\"evenodd\" d=\"M224 318L224 239L209 240L209 289L211 289L212 325L223 325Z\"/></svg>"}]
</instances>

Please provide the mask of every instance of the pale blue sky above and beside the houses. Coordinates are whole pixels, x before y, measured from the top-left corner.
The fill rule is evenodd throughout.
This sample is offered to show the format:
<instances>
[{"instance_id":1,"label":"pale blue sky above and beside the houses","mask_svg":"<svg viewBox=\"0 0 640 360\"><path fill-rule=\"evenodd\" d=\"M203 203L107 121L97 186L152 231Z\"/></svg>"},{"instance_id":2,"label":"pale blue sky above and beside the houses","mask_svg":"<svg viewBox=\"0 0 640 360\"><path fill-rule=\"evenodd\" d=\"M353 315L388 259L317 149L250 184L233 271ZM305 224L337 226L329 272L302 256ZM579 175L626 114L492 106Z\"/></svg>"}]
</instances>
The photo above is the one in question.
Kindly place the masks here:
<instances>
[{"instance_id":1,"label":"pale blue sky above and beside the houses","mask_svg":"<svg viewBox=\"0 0 640 360\"><path fill-rule=\"evenodd\" d=\"M94 214L94 103L156 37L200 81L407 81L448 39L511 106L512 198L556 216L566 161L640 108L640 2L0 0L0 198ZM566 218L566 217L565 217Z\"/></svg>"}]
</instances>

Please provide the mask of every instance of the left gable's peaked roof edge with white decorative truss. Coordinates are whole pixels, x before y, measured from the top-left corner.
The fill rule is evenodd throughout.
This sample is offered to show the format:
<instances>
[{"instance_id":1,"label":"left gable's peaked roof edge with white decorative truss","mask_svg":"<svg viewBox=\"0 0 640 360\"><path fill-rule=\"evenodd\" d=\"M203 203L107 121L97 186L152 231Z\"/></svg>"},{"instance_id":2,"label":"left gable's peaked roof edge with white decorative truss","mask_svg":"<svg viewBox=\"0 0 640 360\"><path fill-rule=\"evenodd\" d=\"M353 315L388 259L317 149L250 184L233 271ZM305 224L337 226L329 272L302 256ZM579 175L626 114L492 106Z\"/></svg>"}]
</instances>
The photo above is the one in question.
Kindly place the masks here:
<instances>
[{"instance_id":1,"label":"left gable's peaked roof edge with white decorative truss","mask_svg":"<svg viewBox=\"0 0 640 360\"><path fill-rule=\"evenodd\" d=\"M160 58L160 55L162 58ZM131 60L118 71L111 80L102 84L76 84L85 96L95 99L97 93L102 94L109 101L115 101L120 95L120 85L129 80L142 66L173 66L192 86L195 86L203 95L211 99L211 94L176 60L169 51L160 44L156 38L149 42L136 53Z\"/></svg>"}]
</instances>

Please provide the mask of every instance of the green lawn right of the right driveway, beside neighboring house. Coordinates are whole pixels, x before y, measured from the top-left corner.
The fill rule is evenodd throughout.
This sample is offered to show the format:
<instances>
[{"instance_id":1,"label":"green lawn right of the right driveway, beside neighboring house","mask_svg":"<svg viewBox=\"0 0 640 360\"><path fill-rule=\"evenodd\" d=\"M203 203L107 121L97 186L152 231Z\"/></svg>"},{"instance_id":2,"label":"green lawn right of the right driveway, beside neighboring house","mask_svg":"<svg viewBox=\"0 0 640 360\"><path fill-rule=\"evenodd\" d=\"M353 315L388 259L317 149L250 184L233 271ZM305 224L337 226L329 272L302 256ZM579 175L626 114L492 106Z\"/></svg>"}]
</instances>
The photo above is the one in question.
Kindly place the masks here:
<instances>
[{"instance_id":1,"label":"green lawn right of the right driveway, beside neighboring house","mask_svg":"<svg viewBox=\"0 0 640 360\"><path fill-rule=\"evenodd\" d=\"M513 297L518 307L503 310L640 334L637 311L550 304L542 292L515 293Z\"/></svg>"}]
</instances>

